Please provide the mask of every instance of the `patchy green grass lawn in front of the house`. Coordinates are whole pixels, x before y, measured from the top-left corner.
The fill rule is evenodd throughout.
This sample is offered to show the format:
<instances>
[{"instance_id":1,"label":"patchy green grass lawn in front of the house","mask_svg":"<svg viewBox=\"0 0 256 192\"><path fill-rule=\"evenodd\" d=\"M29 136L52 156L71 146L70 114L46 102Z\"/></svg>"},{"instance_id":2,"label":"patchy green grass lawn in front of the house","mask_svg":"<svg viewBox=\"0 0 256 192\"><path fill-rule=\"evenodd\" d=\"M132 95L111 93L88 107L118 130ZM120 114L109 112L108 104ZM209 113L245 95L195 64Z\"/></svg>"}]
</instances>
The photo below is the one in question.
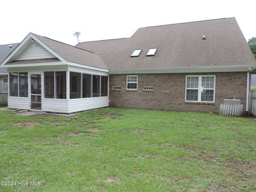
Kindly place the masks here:
<instances>
[{"instance_id":1,"label":"patchy green grass lawn in front of the house","mask_svg":"<svg viewBox=\"0 0 256 192\"><path fill-rule=\"evenodd\" d=\"M103 108L0 111L0 191L255 191L256 121ZM41 186L18 186L40 181Z\"/></svg>"}]
</instances>

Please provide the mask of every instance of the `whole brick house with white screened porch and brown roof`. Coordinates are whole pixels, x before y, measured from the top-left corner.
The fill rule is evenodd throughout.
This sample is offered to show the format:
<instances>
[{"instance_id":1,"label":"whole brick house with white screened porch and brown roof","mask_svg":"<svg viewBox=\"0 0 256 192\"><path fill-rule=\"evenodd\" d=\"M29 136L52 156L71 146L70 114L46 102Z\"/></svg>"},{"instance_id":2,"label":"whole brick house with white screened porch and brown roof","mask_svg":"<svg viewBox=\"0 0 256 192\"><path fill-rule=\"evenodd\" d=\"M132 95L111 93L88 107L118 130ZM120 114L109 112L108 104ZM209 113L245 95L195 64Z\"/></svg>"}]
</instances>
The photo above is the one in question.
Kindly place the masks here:
<instances>
[{"instance_id":1,"label":"whole brick house with white screened porch and brown roof","mask_svg":"<svg viewBox=\"0 0 256 192\"><path fill-rule=\"evenodd\" d=\"M7 57L9 107L73 113L99 107L248 110L256 61L235 18L139 28L76 46L30 33Z\"/></svg>"}]
</instances>

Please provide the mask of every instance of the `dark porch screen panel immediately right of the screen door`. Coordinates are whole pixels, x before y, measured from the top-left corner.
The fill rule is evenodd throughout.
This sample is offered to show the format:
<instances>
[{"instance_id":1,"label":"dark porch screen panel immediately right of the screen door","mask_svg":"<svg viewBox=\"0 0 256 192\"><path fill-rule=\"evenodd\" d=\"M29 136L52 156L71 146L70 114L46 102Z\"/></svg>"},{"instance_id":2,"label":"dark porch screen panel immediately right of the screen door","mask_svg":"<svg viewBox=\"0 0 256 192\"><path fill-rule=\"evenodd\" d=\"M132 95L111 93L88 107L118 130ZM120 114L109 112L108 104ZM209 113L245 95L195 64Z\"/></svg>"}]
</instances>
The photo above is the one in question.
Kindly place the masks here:
<instances>
[{"instance_id":1,"label":"dark porch screen panel immediately right of the screen door","mask_svg":"<svg viewBox=\"0 0 256 192\"><path fill-rule=\"evenodd\" d=\"M44 72L45 98L54 99L54 72Z\"/></svg>"}]
</instances>

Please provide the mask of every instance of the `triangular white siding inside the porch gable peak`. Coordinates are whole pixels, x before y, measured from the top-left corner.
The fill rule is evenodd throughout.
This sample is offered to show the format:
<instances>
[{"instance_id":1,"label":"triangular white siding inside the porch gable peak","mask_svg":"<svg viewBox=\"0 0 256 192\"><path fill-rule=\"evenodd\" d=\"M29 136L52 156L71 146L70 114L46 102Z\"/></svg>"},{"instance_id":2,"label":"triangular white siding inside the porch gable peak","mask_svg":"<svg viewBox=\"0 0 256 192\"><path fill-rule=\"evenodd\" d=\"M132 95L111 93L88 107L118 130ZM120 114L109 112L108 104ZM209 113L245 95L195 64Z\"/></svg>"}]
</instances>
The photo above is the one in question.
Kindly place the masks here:
<instances>
[{"instance_id":1,"label":"triangular white siding inside the porch gable peak","mask_svg":"<svg viewBox=\"0 0 256 192\"><path fill-rule=\"evenodd\" d=\"M34 42L31 43L15 60L29 60L29 59L46 59L55 58L55 56L47 51L43 46Z\"/></svg>"}]
</instances>

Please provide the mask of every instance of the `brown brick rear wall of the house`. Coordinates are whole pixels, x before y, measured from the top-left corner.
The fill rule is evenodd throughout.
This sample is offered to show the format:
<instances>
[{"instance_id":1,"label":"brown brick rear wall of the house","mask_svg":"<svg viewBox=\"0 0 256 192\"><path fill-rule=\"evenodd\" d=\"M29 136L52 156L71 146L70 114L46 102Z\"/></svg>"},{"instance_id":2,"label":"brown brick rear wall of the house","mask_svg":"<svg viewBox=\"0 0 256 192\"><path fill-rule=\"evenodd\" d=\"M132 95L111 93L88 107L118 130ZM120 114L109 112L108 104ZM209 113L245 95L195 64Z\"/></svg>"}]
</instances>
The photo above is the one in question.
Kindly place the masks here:
<instances>
[{"instance_id":1,"label":"brown brick rear wall of the house","mask_svg":"<svg viewBox=\"0 0 256 192\"><path fill-rule=\"evenodd\" d=\"M130 75L130 74L129 74ZM193 74L133 74L138 75L138 91L126 90L126 75L110 75L109 106L171 111L218 112L223 99L241 99L246 110L246 72ZM186 75L215 75L215 103L185 102ZM119 85L121 90L112 90ZM153 86L154 91L143 91ZM170 93L162 93L170 91Z\"/></svg>"}]
</instances>

